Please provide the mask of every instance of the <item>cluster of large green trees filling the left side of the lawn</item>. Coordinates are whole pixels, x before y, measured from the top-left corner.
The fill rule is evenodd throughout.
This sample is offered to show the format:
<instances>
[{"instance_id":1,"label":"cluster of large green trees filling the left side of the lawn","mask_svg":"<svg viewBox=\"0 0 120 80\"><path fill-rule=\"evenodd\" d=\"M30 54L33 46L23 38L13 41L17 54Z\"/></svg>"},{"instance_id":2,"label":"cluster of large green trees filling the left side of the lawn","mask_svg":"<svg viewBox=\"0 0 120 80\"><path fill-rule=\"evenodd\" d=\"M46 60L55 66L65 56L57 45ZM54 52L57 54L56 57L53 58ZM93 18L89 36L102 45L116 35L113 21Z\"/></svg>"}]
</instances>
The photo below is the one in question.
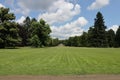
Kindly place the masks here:
<instances>
[{"instance_id":1,"label":"cluster of large green trees filling the left side of the lawn","mask_svg":"<svg viewBox=\"0 0 120 80\"><path fill-rule=\"evenodd\" d=\"M26 17L23 24L15 22L9 8L0 8L0 48L16 46L46 47L53 45L51 29L43 19Z\"/></svg>"}]
</instances>

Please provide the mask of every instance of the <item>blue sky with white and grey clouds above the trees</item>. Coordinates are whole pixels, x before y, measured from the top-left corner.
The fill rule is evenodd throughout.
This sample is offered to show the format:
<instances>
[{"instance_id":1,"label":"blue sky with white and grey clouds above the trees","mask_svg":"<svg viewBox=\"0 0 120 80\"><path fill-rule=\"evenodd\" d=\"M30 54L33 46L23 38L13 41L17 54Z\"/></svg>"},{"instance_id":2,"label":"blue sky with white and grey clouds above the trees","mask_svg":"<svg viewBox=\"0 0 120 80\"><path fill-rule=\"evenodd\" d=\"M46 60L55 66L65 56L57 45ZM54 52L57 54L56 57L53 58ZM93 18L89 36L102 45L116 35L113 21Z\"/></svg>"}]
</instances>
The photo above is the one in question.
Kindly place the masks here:
<instances>
[{"instance_id":1,"label":"blue sky with white and grey clouds above the trees","mask_svg":"<svg viewBox=\"0 0 120 80\"><path fill-rule=\"evenodd\" d=\"M0 7L10 8L20 24L27 16L43 18L50 25L50 35L59 39L87 32L98 11L108 29L116 32L120 25L120 0L0 0Z\"/></svg>"}]
</instances>

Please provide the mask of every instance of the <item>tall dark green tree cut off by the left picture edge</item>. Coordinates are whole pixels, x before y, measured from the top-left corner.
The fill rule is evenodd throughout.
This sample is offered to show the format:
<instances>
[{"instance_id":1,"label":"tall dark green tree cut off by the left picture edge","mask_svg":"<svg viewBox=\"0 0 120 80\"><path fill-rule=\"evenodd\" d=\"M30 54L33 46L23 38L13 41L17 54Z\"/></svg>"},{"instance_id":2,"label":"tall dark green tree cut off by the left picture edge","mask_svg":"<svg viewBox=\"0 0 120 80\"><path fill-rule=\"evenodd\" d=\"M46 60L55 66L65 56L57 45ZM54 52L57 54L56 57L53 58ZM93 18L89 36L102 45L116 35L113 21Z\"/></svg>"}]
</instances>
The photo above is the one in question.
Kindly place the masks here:
<instances>
[{"instance_id":1,"label":"tall dark green tree cut off by the left picture edge","mask_svg":"<svg viewBox=\"0 0 120 80\"><path fill-rule=\"evenodd\" d=\"M15 16L9 8L0 8L0 48L15 47L20 41Z\"/></svg>"}]
</instances>

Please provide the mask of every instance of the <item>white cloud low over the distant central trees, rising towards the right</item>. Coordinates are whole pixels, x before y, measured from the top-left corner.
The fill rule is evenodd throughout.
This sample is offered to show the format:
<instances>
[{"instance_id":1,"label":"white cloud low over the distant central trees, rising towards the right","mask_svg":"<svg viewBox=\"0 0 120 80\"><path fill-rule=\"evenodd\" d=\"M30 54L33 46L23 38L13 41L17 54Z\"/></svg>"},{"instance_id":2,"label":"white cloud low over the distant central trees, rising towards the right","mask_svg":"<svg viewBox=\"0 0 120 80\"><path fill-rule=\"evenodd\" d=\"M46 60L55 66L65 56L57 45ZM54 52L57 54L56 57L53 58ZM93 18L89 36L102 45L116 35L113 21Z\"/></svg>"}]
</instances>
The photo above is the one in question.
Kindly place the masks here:
<instances>
[{"instance_id":1,"label":"white cloud low over the distant central trees, rising towards the right","mask_svg":"<svg viewBox=\"0 0 120 80\"><path fill-rule=\"evenodd\" d=\"M62 26L52 26L51 36L53 38L66 39L70 36L79 36L82 34L82 27L85 26L88 21L84 17L79 17L77 20L67 23Z\"/></svg>"}]
</instances>

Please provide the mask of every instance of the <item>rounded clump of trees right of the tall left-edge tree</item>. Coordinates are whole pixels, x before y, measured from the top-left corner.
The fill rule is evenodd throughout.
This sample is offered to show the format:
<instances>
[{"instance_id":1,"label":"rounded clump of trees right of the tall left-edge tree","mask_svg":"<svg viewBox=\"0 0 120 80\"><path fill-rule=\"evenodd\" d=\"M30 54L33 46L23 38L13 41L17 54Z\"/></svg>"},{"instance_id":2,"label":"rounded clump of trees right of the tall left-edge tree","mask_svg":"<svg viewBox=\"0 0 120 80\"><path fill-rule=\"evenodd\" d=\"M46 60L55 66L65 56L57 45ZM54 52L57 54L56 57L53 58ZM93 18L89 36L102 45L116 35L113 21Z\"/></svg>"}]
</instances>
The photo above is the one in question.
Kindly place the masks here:
<instances>
[{"instance_id":1,"label":"rounded clump of trees right of the tall left-edge tree","mask_svg":"<svg viewBox=\"0 0 120 80\"><path fill-rule=\"evenodd\" d=\"M43 47L48 46L50 44L50 26L46 24L46 22L43 19L40 19L38 22L35 18L30 19L29 17L26 17L24 20L23 25L18 25L19 28L19 35L22 38L21 45L23 46L33 46L31 44L35 43L32 40L38 37L38 42L40 42L40 45L36 44L35 47Z\"/></svg>"}]
</instances>

